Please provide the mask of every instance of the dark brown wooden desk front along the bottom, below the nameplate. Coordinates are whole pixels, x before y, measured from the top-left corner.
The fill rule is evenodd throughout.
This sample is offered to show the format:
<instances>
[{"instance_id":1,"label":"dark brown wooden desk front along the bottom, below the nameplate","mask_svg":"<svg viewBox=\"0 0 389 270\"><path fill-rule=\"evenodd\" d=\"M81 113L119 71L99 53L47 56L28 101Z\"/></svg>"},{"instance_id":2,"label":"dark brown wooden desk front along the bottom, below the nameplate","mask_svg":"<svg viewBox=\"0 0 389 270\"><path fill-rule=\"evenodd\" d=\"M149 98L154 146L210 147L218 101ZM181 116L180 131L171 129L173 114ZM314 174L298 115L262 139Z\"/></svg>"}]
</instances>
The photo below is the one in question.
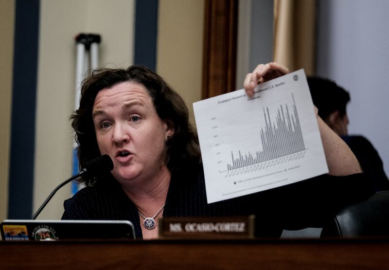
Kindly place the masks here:
<instances>
[{"instance_id":1,"label":"dark brown wooden desk front along the bottom, below the nameplate","mask_svg":"<svg viewBox=\"0 0 389 270\"><path fill-rule=\"evenodd\" d=\"M389 239L0 241L0 269L389 269Z\"/></svg>"}]
</instances>

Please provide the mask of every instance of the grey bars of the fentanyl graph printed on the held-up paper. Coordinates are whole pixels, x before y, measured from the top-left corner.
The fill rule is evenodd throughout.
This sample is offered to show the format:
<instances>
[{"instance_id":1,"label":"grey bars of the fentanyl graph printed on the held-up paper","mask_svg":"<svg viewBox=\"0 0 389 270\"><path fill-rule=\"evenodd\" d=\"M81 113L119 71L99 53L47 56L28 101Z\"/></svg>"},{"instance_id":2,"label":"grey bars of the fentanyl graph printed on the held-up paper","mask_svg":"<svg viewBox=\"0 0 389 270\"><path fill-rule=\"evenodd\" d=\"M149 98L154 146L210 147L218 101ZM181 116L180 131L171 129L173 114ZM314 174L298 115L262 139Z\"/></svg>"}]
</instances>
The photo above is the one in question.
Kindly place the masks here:
<instances>
[{"instance_id":1,"label":"grey bars of the fentanyl graph printed on the held-up paper","mask_svg":"<svg viewBox=\"0 0 389 270\"><path fill-rule=\"evenodd\" d=\"M293 93L292 100L291 111L287 104L281 104L277 110L275 119L270 115L268 107L263 108L265 126L261 127L259 132L263 150L253 153L242 153L241 150L238 150L235 156L233 151L231 151L231 162L227 163L227 171L281 158L305 150Z\"/></svg>"}]
</instances>

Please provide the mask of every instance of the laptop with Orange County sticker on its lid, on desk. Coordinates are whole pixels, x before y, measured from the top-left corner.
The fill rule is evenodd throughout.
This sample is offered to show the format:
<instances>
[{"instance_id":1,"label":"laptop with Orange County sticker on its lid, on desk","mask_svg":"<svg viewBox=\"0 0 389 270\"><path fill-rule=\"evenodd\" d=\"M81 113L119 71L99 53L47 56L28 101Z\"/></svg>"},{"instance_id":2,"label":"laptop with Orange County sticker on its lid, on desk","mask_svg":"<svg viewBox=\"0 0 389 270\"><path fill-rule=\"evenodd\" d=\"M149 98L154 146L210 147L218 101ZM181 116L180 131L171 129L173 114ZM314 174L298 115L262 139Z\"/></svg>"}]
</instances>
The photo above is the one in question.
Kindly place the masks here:
<instances>
[{"instance_id":1,"label":"laptop with Orange County sticker on its lid, on desk","mask_svg":"<svg viewBox=\"0 0 389 270\"><path fill-rule=\"evenodd\" d=\"M128 220L6 219L0 232L4 241L135 239L134 225Z\"/></svg>"}]
</instances>

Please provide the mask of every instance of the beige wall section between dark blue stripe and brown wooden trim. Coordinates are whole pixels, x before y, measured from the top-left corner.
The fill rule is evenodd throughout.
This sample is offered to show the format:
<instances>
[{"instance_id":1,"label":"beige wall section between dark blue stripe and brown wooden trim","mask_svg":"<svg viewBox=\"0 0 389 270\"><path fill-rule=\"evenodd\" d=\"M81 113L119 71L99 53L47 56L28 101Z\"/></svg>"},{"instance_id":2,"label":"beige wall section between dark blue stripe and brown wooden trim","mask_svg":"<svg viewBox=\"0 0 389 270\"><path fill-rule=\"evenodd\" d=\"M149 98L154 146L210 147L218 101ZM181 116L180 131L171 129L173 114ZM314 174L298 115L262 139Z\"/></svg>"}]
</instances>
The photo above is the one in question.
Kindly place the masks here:
<instances>
[{"instance_id":1,"label":"beige wall section between dark blue stripe and brown wooden trim","mask_svg":"<svg viewBox=\"0 0 389 270\"><path fill-rule=\"evenodd\" d=\"M192 103L201 99L204 0L160 0L157 72Z\"/></svg>"}]
</instances>

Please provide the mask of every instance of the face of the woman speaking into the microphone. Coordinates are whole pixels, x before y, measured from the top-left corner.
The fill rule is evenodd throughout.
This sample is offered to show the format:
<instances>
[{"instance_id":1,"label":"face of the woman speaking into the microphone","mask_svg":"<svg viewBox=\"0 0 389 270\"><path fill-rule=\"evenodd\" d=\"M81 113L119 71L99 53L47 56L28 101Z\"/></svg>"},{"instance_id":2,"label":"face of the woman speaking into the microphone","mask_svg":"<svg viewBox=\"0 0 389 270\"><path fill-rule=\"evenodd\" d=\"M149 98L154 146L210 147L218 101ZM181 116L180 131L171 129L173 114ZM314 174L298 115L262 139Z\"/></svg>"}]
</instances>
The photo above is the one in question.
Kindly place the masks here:
<instances>
[{"instance_id":1,"label":"face of the woman speaking into the microphone","mask_svg":"<svg viewBox=\"0 0 389 270\"><path fill-rule=\"evenodd\" d=\"M165 165L164 140L174 128L159 118L142 84L123 82L100 90L92 117L100 153L111 157L116 180L126 185L158 175Z\"/></svg>"}]
</instances>

